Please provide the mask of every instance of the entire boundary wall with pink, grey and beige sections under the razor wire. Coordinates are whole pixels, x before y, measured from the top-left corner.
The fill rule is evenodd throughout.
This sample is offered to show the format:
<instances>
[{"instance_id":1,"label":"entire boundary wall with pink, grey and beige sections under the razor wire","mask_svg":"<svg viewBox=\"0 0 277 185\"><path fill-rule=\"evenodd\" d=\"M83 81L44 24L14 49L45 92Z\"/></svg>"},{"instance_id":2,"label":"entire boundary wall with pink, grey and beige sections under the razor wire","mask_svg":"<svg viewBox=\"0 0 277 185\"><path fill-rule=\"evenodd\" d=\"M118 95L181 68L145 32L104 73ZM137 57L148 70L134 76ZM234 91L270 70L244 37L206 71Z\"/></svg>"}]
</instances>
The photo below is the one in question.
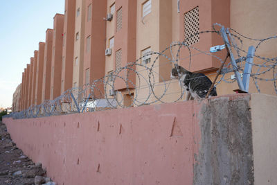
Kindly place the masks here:
<instances>
[{"instance_id":1,"label":"entire boundary wall with pink, grey and beige sections under the razor wire","mask_svg":"<svg viewBox=\"0 0 277 185\"><path fill-rule=\"evenodd\" d=\"M266 184L276 182L276 101L238 94L4 123L58 184Z\"/></svg>"}]
</instances>

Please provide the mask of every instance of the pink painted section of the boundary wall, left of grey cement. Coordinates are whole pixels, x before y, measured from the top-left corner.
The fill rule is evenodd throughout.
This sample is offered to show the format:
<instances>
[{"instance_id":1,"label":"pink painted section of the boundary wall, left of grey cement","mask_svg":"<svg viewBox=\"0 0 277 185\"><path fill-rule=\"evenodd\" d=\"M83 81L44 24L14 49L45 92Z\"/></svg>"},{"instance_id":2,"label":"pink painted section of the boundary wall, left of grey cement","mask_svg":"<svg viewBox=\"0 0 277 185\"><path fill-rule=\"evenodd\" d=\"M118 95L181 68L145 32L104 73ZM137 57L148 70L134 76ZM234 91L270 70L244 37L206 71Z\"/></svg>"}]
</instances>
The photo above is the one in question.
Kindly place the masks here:
<instances>
[{"instance_id":1,"label":"pink painted section of the boundary wall, left of grey cement","mask_svg":"<svg viewBox=\"0 0 277 185\"><path fill-rule=\"evenodd\" d=\"M4 123L58 184L193 184L199 107L188 101Z\"/></svg>"}]
</instances>

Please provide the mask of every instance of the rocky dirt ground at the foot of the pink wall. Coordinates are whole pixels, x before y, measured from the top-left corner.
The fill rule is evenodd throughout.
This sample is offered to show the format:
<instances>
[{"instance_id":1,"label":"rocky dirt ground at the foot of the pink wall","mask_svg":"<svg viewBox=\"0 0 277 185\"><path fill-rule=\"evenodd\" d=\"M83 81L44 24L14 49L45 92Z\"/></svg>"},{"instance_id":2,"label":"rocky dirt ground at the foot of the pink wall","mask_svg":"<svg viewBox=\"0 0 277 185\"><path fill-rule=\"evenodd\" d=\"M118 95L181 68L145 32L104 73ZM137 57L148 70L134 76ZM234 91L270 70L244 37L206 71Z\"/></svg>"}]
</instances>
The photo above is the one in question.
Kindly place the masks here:
<instances>
[{"instance_id":1,"label":"rocky dirt ground at the foot of the pink wall","mask_svg":"<svg viewBox=\"0 0 277 185\"><path fill-rule=\"evenodd\" d=\"M0 121L0 185L35 184L35 176L46 176L41 164L34 164L10 139L6 125ZM36 183L37 184L37 183Z\"/></svg>"}]
</instances>

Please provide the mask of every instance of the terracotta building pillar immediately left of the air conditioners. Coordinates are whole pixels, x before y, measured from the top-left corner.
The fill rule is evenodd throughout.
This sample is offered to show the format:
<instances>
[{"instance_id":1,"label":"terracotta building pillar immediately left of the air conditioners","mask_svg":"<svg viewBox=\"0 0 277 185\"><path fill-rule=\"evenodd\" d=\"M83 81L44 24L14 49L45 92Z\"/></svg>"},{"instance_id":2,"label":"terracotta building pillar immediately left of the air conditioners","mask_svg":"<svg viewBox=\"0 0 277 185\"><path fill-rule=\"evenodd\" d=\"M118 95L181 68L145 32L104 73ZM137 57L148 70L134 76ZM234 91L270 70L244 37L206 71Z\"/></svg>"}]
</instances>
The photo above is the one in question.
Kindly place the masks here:
<instances>
[{"instance_id":1,"label":"terracotta building pillar immediately left of the air conditioners","mask_svg":"<svg viewBox=\"0 0 277 185\"><path fill-rule=\"evenodd\" d=\"M106 5L107 1L85 1L83 85L105 76Z\"/></svg>"}]
</instances>

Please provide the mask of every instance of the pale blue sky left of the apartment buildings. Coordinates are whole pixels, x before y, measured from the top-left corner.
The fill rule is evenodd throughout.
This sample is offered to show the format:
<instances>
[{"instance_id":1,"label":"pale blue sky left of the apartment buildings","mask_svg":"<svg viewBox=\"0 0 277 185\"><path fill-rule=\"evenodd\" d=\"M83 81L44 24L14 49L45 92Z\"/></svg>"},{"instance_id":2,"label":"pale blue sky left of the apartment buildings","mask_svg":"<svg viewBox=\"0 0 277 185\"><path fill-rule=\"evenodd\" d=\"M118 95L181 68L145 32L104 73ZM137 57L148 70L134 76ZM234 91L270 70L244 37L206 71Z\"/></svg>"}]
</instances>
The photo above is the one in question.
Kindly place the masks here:
<instances>
[{"instance_id":1,"label":"pale blue sky left of the apartment buildings","mask_svg":"<svg viewBox=\"0 0 277 185\"><path fill-rule=\"evenodd\" d=\"M11 107L22 72L64 0L3 0L0 10L0 107Z\"/></svg>"}]
</instances>

